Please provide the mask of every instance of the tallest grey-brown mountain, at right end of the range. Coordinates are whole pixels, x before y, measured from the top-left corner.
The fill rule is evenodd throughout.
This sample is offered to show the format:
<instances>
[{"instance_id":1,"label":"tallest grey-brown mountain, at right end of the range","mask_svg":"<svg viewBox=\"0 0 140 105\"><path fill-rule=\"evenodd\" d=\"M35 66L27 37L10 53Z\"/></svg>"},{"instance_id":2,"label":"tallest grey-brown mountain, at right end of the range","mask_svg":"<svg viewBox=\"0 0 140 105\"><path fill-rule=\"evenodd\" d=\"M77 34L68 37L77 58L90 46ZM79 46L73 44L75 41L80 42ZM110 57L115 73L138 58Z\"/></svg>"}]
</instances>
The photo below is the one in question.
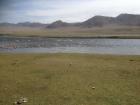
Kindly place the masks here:
<instances>
[{"instance_id":1,"label":"tallest grey-brown mountain, at right end of the range","mask_svg":"<svg viewBox=\"0 0 140 105\"><path fill-rule=\"evenodd\" d=\"M81 26L84 27L101 27L107 25L140 26L140 15L120 14L117 17L94 16L81 23Z\"/></svg>"}]
</instances>

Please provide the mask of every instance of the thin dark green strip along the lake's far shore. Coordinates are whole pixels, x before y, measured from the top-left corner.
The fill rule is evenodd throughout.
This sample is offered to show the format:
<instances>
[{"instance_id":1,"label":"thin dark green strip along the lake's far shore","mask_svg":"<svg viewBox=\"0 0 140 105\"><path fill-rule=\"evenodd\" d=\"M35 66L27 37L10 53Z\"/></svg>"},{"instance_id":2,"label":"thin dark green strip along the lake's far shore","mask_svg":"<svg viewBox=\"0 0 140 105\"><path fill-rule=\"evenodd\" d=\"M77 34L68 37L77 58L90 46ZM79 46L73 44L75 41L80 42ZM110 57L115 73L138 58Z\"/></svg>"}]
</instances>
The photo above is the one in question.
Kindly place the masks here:
<instances>
[{"instance_id":1,"label":"thin dark green strip along the lake's far shore","mask_svg":"<svg viewBox=\"0 0 140 105\"><path fill-rule=\"evenodd\" d=\"M73 35L73 36L66 36L66 35L58 35L58 36L50 36L50 35L13 35L13 34L0 34L0 37L18 37L18 38L93 38L93 39L140 39L140 35Z\"/></svg>"}]
</instances>

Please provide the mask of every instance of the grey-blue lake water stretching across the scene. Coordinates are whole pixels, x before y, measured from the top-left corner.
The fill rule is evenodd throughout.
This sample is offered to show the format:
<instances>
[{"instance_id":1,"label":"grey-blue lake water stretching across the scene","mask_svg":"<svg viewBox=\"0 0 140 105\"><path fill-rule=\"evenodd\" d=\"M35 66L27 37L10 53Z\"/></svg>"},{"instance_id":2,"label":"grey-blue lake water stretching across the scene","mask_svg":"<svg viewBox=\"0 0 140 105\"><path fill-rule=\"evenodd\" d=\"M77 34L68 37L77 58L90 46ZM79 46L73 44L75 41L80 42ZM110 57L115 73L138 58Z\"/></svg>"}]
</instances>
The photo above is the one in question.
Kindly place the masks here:
<instances>
[{"instance_id":1,"label":"grey-blue lake water stretching across the scene","mask_svg":"<svg viewBox=\"0 0 140 105\"><path fill-rule=\"evenodd\" d=\"M1 36L0 52L140 55L140 39Z\"/></svg>"}]
</instances>

